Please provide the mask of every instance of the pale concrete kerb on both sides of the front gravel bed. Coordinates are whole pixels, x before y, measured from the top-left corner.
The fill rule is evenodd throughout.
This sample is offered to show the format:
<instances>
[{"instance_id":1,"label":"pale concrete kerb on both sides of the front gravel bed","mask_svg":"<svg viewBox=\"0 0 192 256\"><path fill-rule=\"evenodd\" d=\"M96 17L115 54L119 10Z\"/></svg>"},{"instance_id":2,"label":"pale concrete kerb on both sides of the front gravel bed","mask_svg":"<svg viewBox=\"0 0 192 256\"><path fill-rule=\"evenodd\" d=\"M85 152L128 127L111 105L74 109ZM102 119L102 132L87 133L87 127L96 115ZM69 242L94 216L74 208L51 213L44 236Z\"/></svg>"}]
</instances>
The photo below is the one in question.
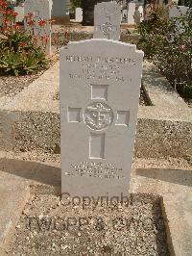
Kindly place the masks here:
<instances>
[{"instance_id":1,"label":"pale concrete kerb on both sides of the front gravel bed","mask_svg":"<svg viewBox=\"0 0 192 256\"><path fill-rule=\"evenodd\" d=\"M60 195L60 163L13 160L10 156L9 159L5 157L0 161L0 242L11 237L12 226L28 199L26 180L31 192ZM132 169L130 192L161 196L171 255L191 255L192 170L141 167Z\"/></svg>"}]
</instances>

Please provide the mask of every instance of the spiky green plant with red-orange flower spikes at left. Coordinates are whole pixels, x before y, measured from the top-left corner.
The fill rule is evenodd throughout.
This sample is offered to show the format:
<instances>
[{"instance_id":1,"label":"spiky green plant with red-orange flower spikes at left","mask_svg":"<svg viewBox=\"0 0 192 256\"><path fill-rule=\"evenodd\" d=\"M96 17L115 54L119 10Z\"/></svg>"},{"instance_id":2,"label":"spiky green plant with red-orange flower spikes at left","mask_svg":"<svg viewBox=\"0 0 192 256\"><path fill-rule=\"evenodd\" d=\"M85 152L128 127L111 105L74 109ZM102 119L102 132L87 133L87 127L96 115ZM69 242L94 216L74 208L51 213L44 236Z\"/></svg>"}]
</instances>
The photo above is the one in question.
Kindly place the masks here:
<instances>
[{"instance_id":1,"label":"spiky green plant with red-orange flower spikes at left","mask_svg":"<svg viewBox=\"0 0 192 256\"><path fill-rule=\"evenodd\" d=\"M38 40L46 47L47 37L33 34L33 15L25 17L32 33L26 33L19 23L15 22L17 13L8 10L5 0L0 0L0 74L28 74L46 68L47 60L43 48L38 47ZM38 20L43 28L46 21ZM50 21L51 22L51 21Z\"/></svg>"}]
</instances>

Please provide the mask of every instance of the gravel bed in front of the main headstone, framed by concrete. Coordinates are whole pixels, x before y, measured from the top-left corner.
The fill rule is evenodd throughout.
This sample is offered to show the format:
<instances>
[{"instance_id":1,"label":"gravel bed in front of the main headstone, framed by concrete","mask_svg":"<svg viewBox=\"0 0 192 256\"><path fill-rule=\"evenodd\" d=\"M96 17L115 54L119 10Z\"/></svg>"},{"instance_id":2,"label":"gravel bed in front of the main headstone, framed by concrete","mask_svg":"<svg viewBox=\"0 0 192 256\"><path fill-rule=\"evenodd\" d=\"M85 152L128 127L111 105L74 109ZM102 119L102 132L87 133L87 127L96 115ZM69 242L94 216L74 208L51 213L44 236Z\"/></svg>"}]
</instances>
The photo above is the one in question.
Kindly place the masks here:
<instances>
[{"instance_id":1,"label":"gravel bed in front of the main headstone, framed by concrete","mask_svg":"<svg viewBox=\"0 0 192 256\"><path fill-rule=\"evenodd\" d=\"M33 195L6 255L169 255L159 201L131 194L124 205L83 207L78 200Z\"/></svg>"}]
</instances>

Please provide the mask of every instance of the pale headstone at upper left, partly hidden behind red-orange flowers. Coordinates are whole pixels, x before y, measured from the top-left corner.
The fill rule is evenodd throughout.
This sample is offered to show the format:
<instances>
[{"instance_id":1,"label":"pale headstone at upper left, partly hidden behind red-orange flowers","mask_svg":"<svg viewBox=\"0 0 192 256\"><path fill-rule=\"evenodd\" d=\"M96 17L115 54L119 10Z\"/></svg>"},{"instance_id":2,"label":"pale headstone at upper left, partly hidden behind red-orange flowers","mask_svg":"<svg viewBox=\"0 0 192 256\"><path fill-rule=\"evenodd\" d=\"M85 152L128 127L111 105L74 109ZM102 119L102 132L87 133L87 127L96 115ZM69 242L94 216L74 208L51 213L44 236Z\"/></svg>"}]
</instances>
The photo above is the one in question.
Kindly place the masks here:
<instances>
[{"instance_id":1,"label":"pale headstone at upper left, partly hidden behind red-orange flowers","mask_svg":"<svg viewBox=\"0 0 192 256\"><path fill-rule=\"evenodd\" d=\"M51 54L51 24L47 22L44 27L38 25L38 21L51 19L51 9L52 0L26 0L24 3L24 15L27 16L28 13L33 13L32 19L35 21L35 26L32 29L26 20L24 20L25 30L30 34L39 36L37 41L38 46L44 47L47 54ZM46 39L42 40L41 37Z\"/></svg>"}]
</instances>

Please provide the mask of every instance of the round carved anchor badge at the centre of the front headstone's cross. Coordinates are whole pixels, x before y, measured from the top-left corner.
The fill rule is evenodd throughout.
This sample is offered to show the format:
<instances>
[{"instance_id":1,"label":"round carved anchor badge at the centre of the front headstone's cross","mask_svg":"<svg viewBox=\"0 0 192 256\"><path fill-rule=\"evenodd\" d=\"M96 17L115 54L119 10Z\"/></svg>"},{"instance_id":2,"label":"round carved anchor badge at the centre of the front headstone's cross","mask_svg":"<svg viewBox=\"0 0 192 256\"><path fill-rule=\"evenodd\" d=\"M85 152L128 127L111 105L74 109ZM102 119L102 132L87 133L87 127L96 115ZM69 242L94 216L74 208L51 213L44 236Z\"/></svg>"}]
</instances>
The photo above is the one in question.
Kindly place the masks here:
<instances>
[{"instance_id":1,"label":"round carved anchor badge at the centre of the front headstone's cross","mask_svg":"<svg viewBox=\"0 0 192 256\"><path fill-rule=\"evenodd\" d=\"M107 129L113 118L111 108L104 102L92 102L84 110L84 123L94 131Z\"/></svg>"}]
</instances>

